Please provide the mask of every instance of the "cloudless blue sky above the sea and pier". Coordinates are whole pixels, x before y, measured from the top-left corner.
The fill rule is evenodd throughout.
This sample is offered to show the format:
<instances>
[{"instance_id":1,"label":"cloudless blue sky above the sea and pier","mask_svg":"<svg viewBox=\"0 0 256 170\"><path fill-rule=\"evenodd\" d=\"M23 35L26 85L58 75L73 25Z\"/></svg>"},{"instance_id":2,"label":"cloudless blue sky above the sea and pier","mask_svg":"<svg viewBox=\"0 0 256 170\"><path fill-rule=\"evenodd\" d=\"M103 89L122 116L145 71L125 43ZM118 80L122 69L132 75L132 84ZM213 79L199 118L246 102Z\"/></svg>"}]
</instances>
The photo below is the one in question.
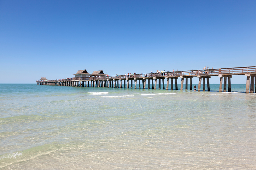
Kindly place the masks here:
<instances>
[{"instance_id":1,"label":"cloudless blue sky above the sea and pier","mask_svg":"<svg viewBox=\"0 0 256 170\"><path fill-rule=\"evenodd\" d=\"M253 66L256 1L0 0L0 62L0 83Z\"/></svg>"}]
</instances>

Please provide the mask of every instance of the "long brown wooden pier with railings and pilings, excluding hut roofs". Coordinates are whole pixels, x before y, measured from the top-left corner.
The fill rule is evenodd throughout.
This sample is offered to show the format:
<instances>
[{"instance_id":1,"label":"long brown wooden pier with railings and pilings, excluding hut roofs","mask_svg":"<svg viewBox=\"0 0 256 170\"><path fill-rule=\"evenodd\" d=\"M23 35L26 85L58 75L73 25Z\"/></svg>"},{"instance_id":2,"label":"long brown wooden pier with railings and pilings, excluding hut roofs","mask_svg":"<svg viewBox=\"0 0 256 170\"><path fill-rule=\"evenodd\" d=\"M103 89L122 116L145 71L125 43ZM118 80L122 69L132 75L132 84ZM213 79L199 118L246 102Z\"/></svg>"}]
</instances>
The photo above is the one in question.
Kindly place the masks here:
<instances>
[{"instance_id":1,"label":"long brown wooden pier with railings and pilings, excluding hut roofs","mask_svg":"<svg viewBox=\"0 0 256 170\"><path fill-rule=\"evenodd\" d=\"M41 78L37 82L37 85L52 85L52 86L73 86L73 87L107 87L107 88L133 88L133 82L135 83L134 89L137 88L137 83L139 83L140 88L151 88L156 89L158 80L158 89L164 87L164 80L167 79L166 90L169 90L169 80L171 79L171 90L173 88L173 80L175 81L175 90L178 90L177 79L181 78L180 90L183 90L184 78L185 78L185 90L188 90L188 79L190 81L190 88L192 90L192 78L198 78L198 91L201 90L201 83L203 78L203 91L205 91L205 80L207 81L207 91L210 91L210 78L211 76L218 76L220 78L220 88L219 92L231 92L231 78L235 75L245 75L246 76L246 91L245 93L254 93L256 90L256 66L250 67L234 67L234 68L220 68L220 69L206 69L206 70L188 70L188 71L174 71L174 72L163 72L163 73L148 73L148 74L133 74L133 75L118 75L118 76L100 76L100 77L76 77L76 78L66 78L61 80L47 80L46 78ZM228 82L227 82L228 80ZM120 81L120 86L119 86ZM142 82L142 87L141 87ZM146 87L147 82L147 87ZM127 86L126 86L127 84ZM251 85L251 86L250 86ZM255 86L255 88L254 88Z\"/></svg>"}]
</instances>

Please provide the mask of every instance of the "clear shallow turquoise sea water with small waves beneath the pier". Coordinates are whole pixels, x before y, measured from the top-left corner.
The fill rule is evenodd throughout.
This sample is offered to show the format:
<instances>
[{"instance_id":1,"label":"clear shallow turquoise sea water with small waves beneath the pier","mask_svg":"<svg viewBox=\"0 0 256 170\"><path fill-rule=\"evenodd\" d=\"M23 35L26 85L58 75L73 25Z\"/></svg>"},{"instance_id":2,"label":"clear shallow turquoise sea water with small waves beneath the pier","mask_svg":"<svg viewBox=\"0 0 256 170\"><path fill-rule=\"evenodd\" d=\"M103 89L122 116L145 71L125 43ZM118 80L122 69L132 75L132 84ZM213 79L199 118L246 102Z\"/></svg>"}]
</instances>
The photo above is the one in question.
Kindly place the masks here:
<instances>
[{"instance_id":1,"label":"clear shallow turquoise sea water with small waves beneath the pier","mask_svg":"<svg viewBox=\"0 0 256 170\"><path fill-rule=\"evenodd\" d=\"M255 93L210 87L0 84L0 169L256 169Z\"/></svg>"}]
</instances>

